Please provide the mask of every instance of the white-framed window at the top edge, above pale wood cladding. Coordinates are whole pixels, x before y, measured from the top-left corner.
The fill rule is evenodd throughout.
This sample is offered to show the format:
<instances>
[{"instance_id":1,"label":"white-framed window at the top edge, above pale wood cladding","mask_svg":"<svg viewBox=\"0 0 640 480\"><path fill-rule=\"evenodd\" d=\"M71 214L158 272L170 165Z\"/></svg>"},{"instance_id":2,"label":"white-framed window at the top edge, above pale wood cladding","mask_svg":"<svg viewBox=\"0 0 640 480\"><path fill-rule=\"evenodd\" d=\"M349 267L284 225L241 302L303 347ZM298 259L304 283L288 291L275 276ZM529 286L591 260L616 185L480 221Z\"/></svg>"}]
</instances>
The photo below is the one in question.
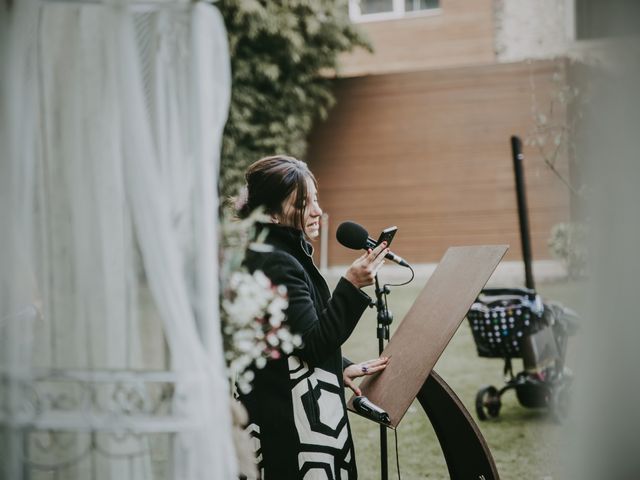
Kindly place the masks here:
<instances>
[{"instance_id":1,"label":"white-framed window at the top edge, above pale wood cladding","mask_svg":"<svg viewBox=\"0 0 640 480\"><path fill-rule=\"evenodd\" d=\"M349 0L355 22L392 20L440 11L440 0Z\"/></svg>"}]
</instances>

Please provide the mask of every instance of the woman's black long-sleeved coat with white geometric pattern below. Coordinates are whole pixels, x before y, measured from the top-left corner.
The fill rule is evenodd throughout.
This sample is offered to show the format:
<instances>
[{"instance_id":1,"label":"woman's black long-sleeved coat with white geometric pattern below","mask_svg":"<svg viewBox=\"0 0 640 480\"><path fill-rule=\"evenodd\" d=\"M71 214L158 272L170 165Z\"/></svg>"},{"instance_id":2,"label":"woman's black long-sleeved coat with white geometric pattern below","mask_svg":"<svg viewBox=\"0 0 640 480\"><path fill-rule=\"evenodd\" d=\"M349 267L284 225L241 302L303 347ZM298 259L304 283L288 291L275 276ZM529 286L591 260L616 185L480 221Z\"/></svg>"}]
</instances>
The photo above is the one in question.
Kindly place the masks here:
<instances>
[{"instance_id":1,"label":"woman's black long-sleeved coat with white geometric pattern below","mask_svg":"<svg viewBox=\"0 0 640 480\"><path fill-rule=\"evenodd\" d=\"M249 252L246 265L287 287L286 324L304 343L256 370L253 389L240 396L249 412L262 478L355 479L340 346L370 298L344 278L331 294L299 230L263 228L273 250Z\"/></svg>"}]
</instances>

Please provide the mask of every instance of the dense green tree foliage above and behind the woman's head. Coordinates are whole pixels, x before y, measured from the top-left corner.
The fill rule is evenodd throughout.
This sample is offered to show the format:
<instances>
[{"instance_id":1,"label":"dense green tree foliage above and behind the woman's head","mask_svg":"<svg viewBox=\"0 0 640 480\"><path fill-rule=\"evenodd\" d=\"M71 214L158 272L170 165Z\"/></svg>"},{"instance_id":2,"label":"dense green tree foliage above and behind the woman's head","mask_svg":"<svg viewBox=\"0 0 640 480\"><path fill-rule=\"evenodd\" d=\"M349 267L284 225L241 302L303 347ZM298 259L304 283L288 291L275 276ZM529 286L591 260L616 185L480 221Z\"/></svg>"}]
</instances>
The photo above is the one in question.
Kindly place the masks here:
<instances>
[{"instance_id":1,"label":"dense green tree foliage above and behind the woman's head","mask_svg":"<svg viewBox=\"0 0 640 480\"><path fill-rule=\"evenodd\" d=\"M221 159L223 197L266 155L302 157L316 119L334 102L338 56L370 48L350 23L346 0L220 0L229 35L232 93Z\"/></svg>"}]
</instances>

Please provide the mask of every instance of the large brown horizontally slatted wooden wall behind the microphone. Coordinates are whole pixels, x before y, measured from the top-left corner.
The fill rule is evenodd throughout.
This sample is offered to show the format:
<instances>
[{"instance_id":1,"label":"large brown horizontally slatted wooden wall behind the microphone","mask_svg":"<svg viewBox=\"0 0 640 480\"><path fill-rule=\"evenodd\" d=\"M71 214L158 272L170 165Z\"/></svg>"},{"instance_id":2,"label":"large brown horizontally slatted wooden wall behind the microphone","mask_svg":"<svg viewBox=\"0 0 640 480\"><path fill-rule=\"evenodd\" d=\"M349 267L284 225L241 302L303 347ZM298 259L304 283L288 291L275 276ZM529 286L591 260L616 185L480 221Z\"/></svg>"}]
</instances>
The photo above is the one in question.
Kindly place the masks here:
<instances>
[{"instance_id":1,"label":"large brown horizontally slatted wooden wall behind the microphone","mask_svg":"<svg viewBox=\"0 0 640 480\"><path fill-rule=\"evenodd\" d=\"M329 264L353 258L335 242L346 220L372 236L398 225L394 250L412 262L472 244L510 244L507 258L521 258L509 137L531 131L531 85L548 105L558 72L549 61L338 80L307 157L330 215ZM545 259L568 192L533 147L524 153L533 255Z\"/></svg>"}]
</instances>

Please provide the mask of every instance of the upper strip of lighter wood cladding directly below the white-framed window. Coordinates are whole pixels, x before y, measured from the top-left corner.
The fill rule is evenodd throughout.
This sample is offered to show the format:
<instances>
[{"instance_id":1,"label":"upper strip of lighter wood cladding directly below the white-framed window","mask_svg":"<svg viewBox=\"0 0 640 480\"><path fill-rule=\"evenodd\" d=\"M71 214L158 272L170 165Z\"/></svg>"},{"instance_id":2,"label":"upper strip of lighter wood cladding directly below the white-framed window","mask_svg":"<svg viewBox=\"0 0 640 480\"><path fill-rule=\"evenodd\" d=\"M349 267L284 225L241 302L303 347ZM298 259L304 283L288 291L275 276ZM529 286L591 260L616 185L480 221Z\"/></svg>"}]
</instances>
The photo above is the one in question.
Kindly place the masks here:
<instances>
[{"instance_id":1,"label":"upper strip of lighter wood cladding directly below the white-framed window","mask_svg":"<svg viewBox=\"0 0 640 480\"><path fill-rule=\"evenodd\" d=\"M340 61L341 76L495 62L492 0L441 0L437 14L360 23L374 53Z\"/></svg>"}]
</instances>

